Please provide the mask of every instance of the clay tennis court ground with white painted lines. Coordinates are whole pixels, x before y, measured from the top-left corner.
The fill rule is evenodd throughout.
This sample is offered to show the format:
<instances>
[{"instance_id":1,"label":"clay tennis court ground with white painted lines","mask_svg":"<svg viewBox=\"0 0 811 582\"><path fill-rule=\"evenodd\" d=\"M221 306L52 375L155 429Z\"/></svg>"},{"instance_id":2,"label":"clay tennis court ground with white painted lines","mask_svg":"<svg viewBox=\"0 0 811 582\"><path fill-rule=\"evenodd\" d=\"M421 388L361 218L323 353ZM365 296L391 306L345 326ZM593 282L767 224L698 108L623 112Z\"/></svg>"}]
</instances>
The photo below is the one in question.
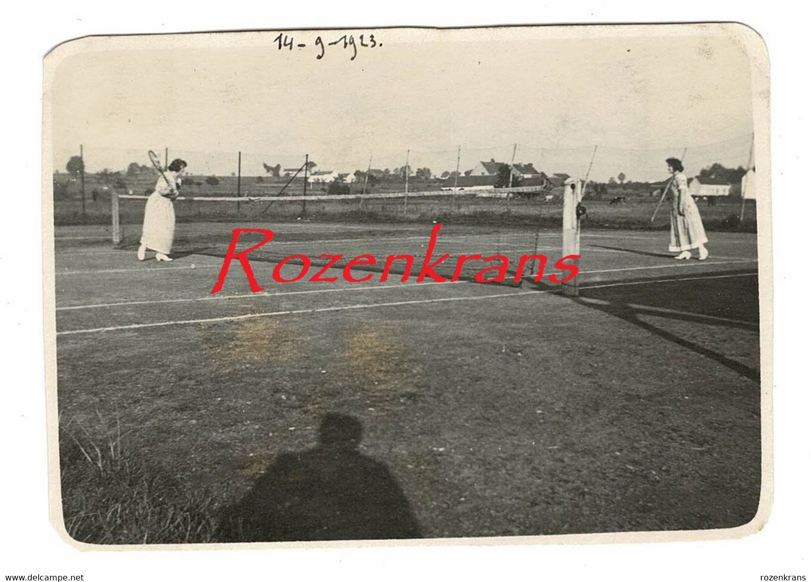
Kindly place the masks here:
<instances>
[{"instance_id":1,"label":"clay tennis court ground with white painted lines","mask_svg":"<svg viewBox=\"0 0 811 582\"><path fill-rule=\"evenodd\" d=\"M58 226L62 425L118 420L127 446L227 504L278 455L315 446L325 414L353 416L424 537L755 515L757 235L709 233L707 261L674 261L667 232L586 229L577 298L380 273L281 284L270 259L253 262L262 293L234 262L210 295L235 226L271 228L285 254L420 257L432 225L178 224L171 263L113 248L104 226ZM445 226L435 254L512 258L535 234ZM542 231L539 252L560 258L560 231Z\"/></svg>"}]
</instances>

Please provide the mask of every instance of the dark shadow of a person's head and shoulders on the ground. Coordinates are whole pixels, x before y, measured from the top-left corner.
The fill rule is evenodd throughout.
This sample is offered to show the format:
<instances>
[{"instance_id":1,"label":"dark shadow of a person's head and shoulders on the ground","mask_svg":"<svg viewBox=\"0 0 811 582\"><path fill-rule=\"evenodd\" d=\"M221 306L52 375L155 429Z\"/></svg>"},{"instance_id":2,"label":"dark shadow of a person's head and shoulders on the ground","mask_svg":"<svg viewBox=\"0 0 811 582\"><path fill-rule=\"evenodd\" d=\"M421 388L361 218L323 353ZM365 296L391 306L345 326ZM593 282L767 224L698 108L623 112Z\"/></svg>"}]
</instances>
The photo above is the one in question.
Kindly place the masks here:
<instances>
[{"instance_id":1,"label":"dark shadow of a person's head and shoulders on the ground","mask_svg":"<svg viewBox=\"0 0 811 582\"><path fill-rule=\"evenodd\" d=\"M218 541L380 540L422 537L397 480L358 451L363 426L327 414L320 443L279 455L221 516Z\"/></svg>"}]
</instances>

